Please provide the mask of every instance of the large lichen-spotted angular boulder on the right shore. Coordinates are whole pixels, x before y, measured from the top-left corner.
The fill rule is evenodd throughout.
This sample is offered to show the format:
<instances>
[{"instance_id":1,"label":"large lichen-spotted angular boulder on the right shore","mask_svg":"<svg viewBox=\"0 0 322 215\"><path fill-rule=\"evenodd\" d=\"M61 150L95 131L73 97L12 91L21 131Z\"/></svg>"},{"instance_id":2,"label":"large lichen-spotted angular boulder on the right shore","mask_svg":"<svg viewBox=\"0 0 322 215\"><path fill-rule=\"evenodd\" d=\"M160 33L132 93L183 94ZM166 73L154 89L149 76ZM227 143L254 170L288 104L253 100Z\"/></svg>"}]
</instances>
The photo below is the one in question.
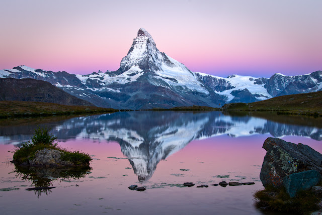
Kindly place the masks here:
<instances>
[{"instance_id":1,"label":"large lichen-spotted angular boulder on the right shore","mask_svg":"<svg viewBox=\"0 0 322 215\"><path fill-rule=\"evenodd\" d=\"M260 173L264 187L281 187L285 176L297 172L314 169L322 173L322 155L307 145L270 137L263 148L267 151Z\"/></svg>"}]
</instances>

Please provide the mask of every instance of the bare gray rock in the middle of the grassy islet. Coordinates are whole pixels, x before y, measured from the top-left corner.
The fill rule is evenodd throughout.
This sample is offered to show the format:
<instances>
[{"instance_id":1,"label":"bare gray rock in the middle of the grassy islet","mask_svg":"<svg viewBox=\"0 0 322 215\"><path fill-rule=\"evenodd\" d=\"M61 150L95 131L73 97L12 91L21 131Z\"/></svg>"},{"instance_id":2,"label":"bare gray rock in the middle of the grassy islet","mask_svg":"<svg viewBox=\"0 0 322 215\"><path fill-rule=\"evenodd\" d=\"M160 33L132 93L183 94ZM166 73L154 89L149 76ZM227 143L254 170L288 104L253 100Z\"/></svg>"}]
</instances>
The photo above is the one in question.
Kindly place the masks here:
<instances>
[{"instance_id":1,"label":"bare gray rock in the middle of the grassy islet","mask_svg":"<svg viewBox=\"0 0 322 215\"><path fill-rule=\"evenodd\" d=\"M56 149L42 149L35 153L33 159L29 159L31 166L74 166L70 161L61 160L63 152Z\"/></svg>"}]
</instances>

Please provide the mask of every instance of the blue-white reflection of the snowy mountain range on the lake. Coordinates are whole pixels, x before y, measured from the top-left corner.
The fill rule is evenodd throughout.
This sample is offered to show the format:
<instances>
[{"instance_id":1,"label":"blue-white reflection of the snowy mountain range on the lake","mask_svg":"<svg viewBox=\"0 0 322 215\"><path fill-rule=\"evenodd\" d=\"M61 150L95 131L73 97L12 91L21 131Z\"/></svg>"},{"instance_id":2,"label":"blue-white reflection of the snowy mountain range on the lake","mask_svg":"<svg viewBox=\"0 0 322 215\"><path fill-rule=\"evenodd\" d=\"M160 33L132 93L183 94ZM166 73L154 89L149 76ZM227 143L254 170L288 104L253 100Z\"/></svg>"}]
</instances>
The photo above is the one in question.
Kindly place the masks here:
<instances>
[{"instance_id":1,"label":"blue-white reflection of the snowy mountain range on the lake","mask_svg":"<svg viewBox=\"0 0 322 215\"><path fill-rule=\"evenodd\" d=\"M139 181L145 181L152 176L160 160L181 150L192 140L218 135L240 137L254 134L322 140L319 121L312 126L307 125L310 122L307 118L279 116L277 122L267 120L274 119L272 116L265 119L263 116L229 116L221 112L135 111L76 117L40 126L51 127L59 140L117 141ZM283 119L288 123L283 123ZM296 125L289 123L295 122L294 119ZM36 126L0 127L0 142L21 143L28 140ZM21 134L22 130L24 135ZM29 135L27 130L30 131Z\"/></svg>"}]
</instances>

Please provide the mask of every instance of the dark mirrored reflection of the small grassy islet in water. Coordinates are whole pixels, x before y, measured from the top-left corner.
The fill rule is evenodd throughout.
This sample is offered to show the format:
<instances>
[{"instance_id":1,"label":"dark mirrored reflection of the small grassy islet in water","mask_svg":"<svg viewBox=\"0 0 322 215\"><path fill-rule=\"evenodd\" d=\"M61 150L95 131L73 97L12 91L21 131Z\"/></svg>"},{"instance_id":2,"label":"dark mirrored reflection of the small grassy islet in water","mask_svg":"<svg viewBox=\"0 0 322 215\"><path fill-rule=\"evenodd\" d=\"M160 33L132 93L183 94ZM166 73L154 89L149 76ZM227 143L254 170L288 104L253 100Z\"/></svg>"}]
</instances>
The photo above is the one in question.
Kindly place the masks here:
<instances>
[{"instance_id":1,"label":"dark mirrored reflection of the small grassy islet in water","mask_svg":"<svg viewBox=\"0 0 322 215\"><path fill-rule=\"evenodd\" d=\"M15 165L16 177L31 181L35 194L38 196L51 193L51 187L56 180L75 180L84 178L91 173L91 167L41 167ZM29 188L30 189L30 188Z\"/></svg>"}]
</instances>

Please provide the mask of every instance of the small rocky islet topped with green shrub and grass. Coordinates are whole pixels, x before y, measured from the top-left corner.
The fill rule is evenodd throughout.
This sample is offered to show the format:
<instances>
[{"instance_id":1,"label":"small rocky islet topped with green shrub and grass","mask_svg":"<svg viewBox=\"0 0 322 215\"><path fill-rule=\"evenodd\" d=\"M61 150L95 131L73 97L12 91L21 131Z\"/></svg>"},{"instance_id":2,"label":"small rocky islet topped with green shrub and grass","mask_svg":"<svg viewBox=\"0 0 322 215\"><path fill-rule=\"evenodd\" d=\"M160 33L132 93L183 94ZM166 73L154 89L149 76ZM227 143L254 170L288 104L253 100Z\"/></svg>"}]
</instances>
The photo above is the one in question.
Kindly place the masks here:
<instances>
[{"instance_id":1,"label":"small rocky islet topped with green shrub and grass","mask_svg":"<svg viewBox=\"0 0 322 215\"><path fill-rule=\"evenodd\" d=\"M68 151L58 146L49 129L37 128L31 141L14 151L13 163L26 166L89 166L93 159L85 152Z\"/></svg>"}]
</instances>

